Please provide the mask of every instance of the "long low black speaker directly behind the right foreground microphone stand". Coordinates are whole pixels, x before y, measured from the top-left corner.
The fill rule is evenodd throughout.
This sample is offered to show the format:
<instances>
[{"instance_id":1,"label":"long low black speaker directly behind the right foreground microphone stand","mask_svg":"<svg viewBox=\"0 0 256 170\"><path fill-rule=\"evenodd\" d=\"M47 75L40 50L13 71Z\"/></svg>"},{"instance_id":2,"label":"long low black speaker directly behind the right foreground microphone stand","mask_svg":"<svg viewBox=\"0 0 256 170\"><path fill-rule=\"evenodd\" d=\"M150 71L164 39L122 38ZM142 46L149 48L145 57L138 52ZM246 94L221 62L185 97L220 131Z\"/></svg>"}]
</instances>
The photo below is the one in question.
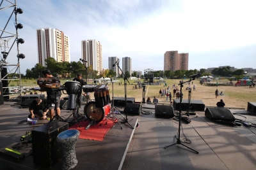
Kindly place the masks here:
<instances>
[{"instance_id":1,"label":"long low black speaker directly behind the right foreground microphone stand","mask_svg":"<svg viewBox=\"0 0 256 170\"><path fill-rule=\"evenodd\" d=\"M204 111L205 109L205 104L201 100L191 100L190 103L192 111ZM180 99L173 100L173 107L175 108L175 110L179 110ZM188 99L182 99L181 110L188 110Z\"/></svg>"}]
</instances>

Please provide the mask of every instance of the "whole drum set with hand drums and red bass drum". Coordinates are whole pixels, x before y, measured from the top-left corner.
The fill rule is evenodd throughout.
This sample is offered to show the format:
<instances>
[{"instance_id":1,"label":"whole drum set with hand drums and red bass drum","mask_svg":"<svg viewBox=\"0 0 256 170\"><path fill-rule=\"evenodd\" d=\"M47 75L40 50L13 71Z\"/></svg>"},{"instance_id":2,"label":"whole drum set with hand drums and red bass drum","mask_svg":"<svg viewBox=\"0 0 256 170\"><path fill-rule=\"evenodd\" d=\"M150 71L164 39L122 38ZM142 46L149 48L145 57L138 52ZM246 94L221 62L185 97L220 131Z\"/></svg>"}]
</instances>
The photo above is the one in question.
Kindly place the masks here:
<instances>
[{"instance_id":1,"label":"whole drum set with hand drums and red bass drum","mask_svg":"<svg viewBox=\"0 0 256 170\"><path fill-rule=\"evenodd\" d=\"M117 118L116 114L121 115L123 118L124 116L116 110L114 107L114 103L112 102L111 106L111 99L109 96L109 89L108 89L108 83L112 83L112 99L114 97L114 85L113 83L118 82L119 80L110 80L110 81L104 81L101 85L83 85L82 89L83 92L94 92L95 101L86 102L86 106L84 106L84 115L79 115L78 113L78 104L77 104L77 94L81 92L81 84L78 81L67 81L64 83L63 87L60 85L60 81L56 80L56 78L38 78L37 84L40 88L34 88L33 90L39 90L39 91L49 91L52 90L54 92L63 91L65 90L68 94L68 102L67 102L67 109L66 110L73 110L73 122L75 124L79 124L79 127L81 127L80 122L83 121L85 118L90 120L90 124L85 128L89 129L91 125L98 124L101 122L104 118L104 121L111 120L116 121L120 125L121 129L122 125ZM56 101L56 96L55 96ZM69 117L70 117L69 116ZM58 115L56 116L58 117ZM68 118L69 118L68 117ZM63 122L68 122L68 118L66 120L63 120ZM53 120L53 118L52 118ZM50 120L50 121L52 121ZM107 121L106 121L107 124Z\"/></svg>"}]
</instances>

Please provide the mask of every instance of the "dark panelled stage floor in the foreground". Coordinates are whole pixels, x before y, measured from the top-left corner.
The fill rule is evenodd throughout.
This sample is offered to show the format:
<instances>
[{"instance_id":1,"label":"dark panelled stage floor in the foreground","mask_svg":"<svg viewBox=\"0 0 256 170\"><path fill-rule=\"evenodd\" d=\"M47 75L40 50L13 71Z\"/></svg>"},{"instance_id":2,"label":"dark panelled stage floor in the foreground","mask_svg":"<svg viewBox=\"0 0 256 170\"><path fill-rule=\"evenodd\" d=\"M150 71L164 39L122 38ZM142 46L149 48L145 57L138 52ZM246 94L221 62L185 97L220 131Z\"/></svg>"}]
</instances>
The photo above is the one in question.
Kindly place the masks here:
<instances>
[{"instance_id":1,"label":"dark panelled stage floor in the foreground","mask_svg":"<svg viewBox=\"0 0 256 170\"><path fill-rule=\"evenodd\" d=\"M164 149L164 146L176 143L177 120L156 118L154 110L143 110L146 114L129 116L134 118L132 125L136 126L137 119L140 123L134 131L127 125L123 125L121 130L116 124L103 141L79 139L76 144L79 162L74 169L256 169L256 130L253 127L217 124L207 119L204 111L196 112L196 115L190 116L190 124L182 122L183 132L180 133L182 141L184 135L191 141L184 145L199 152L196 154L181 145ZM4 104L1 105L0 115L1 148L19 141L20 134L31 127L17 124L26 118L27 109ZM235 117L241 120L246 118L246 121L256 124L255 115L246 114L246 111L236 111ZM0 159L0 164L3 164L3 159L6 160L3 157ZM30 159L33 162L33 157ZM9 168L2 165L0 169ZM60 169L60 162L52 169Z\"/></svg>"}]
</instances>

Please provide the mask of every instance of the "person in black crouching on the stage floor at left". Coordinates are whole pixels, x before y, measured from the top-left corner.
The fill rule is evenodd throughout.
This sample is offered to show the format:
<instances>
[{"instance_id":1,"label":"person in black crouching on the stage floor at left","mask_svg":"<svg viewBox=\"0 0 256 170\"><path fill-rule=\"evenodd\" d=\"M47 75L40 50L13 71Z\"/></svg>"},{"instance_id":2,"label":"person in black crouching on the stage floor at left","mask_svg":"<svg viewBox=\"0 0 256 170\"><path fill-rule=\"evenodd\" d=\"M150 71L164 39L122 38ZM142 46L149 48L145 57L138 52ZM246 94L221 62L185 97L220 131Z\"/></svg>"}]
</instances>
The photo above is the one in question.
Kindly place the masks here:
<instances>
[{"instance_id":1,"label":"person in black crouching on the stage floor at left","mask_svg":"<svg viewBox=\"0 0 256 170\"><path fill-rule=\"evenodd\" d=\"M47 99L33 99L32 103L29 106L29 118L39 118L39 119L47 119Z\"/></svg>"}]
</instances>

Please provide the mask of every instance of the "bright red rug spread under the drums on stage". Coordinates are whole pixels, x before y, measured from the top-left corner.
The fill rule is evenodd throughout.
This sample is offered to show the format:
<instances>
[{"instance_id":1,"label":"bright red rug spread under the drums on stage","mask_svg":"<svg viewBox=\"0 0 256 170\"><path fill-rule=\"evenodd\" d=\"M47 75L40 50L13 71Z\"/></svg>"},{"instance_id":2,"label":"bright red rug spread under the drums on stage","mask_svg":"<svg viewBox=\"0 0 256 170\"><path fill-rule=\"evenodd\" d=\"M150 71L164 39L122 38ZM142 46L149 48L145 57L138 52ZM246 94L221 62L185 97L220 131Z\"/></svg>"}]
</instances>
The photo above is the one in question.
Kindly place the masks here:
<instances>
[{"instance_id":1,"label":"bright red rug spread under the drums on stage","mask_svg":"<svg viewBox=\"0 0 256 170\"><path fill-rule=\"evenodd\" d=\"M106 124L107 122L107 124ZM111 120L102 120L96 125L91 125L90 129L85 130L85 127L89 124L89 120L80 122L81 127L78 124L70 126L68 129L77 129L80 132L79 139L90 139L95 141L103 141L106 133L115 125Z\"/></svg>"}]
</instances>

